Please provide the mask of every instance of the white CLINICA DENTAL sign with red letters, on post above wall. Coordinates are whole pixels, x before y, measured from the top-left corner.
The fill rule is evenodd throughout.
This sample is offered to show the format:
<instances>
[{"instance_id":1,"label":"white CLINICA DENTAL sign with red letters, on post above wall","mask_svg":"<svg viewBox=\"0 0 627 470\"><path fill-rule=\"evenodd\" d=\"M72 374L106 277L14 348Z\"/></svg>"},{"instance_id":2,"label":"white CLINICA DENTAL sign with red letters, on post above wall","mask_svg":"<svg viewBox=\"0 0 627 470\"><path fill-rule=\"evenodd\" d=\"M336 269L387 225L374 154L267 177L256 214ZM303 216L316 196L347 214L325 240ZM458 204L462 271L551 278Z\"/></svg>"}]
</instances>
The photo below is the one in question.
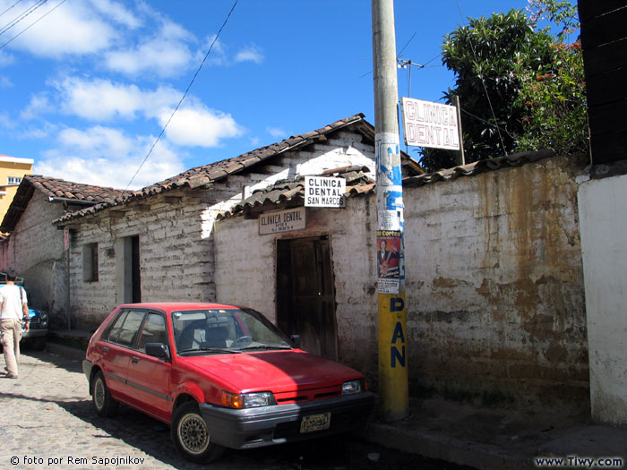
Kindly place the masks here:
<instances>
[{"instance_id":1,"label":"white CLINICA DENTAL sign with red letters, on post above wall","mask_svg":"<svg viewBox=\"0 0 627 470\"><path fill-rule=\"evenodd\" d=\"M407 145L460 150L456 107L414 98L402 98L401 104Z\"/></svg>"}]
</instances>

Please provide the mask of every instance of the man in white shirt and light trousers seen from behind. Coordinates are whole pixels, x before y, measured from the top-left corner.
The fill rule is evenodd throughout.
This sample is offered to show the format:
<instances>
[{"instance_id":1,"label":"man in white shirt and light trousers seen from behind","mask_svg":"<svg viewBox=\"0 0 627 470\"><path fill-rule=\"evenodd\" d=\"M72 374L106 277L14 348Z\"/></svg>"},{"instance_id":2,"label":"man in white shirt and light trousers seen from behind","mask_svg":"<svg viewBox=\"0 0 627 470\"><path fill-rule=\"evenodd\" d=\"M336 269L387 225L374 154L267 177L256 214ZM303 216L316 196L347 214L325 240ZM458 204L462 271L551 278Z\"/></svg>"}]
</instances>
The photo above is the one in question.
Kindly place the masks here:
<instances>
[{"instance_id":1,"label":"man in white shirt and light trousers seen from behind","mask_svg":"<svg viewBox=\"0 0 627 470\"><path fill-rule=\"evenodd\" d=\"M6 363L6 378L17 379L17 363L20 361L21 319L26 316L29 329L29 306L26 291L15 286L15 274L6 275L6 285L0 287L0 332Z\"/></svg>"}]
</instances>

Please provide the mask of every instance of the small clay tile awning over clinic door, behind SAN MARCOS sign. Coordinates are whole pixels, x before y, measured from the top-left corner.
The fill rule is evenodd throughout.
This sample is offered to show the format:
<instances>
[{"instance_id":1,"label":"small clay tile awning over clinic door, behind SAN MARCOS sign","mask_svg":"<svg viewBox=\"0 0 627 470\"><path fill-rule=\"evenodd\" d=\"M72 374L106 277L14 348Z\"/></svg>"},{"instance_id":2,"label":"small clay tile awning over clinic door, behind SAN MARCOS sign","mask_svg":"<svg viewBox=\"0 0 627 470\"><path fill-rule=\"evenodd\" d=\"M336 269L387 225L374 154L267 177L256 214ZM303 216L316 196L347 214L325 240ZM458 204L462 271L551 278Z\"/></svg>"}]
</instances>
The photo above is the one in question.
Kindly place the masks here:
<instances>
[{"instance_id":1,"label":"small clay tile awning over clinic door, behind SAN MARCOS sign","mask_svg":"<svg viewBox=\"0 0 627 470\"><path fill-rule=\"evenodd\" d=\"M374 191L374 181L366 175L368 167L341 167L324 171L322 176L339 176L347 180L345 196L355 196ZM253 192L244 201L219 214L218 219L233 218L253 209L274 209L280 204L303 205L305 201L305 176L278 181L262 190Z\"/></svg>"}]
</instances>

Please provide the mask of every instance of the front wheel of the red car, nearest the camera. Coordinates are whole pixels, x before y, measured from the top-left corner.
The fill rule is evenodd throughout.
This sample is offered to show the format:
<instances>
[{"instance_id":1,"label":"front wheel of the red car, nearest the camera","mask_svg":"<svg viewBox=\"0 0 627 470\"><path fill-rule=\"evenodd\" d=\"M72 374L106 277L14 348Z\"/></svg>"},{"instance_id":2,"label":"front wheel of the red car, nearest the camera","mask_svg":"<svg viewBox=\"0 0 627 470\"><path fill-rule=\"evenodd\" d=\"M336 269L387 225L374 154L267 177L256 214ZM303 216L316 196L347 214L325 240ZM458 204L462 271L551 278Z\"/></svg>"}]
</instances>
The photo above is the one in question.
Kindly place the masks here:
<instances>
[{"instance_id":1,"label":"front wheel of the red car, nearest the camera","mask_svg":"<svg viewBox=\"0 0 627 470\"><path fill-rule=\"evenodd\" d=\"M211 442L210 429L195 402L176 408L170 433L178 453L190 462L211 462L224 452L223 447Z\"/></svg>"}]
</instances>

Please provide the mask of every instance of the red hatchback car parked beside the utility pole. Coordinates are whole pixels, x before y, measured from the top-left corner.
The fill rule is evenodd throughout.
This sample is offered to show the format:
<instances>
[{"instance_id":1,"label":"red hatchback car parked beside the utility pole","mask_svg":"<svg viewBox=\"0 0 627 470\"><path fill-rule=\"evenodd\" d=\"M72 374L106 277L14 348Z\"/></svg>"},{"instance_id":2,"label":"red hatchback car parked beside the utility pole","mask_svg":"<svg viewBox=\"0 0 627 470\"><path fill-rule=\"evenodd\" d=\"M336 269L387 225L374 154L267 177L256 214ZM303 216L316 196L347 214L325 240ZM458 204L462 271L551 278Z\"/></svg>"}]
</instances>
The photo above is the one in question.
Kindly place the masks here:
<instances>
[{"instance_id":1,"label":"red hatchback car parked beside the utility pole","mask_svg":"<svg viewBox=\"0 0 627 470\"><path fill-rule=\"evenodd\" d=\"M99 415L119 403L150 414L193 462L365 423L374 395L364 376L293 339L251 309L133 303L96 330L82 368Z\"/></svg>"}]
</instances>

